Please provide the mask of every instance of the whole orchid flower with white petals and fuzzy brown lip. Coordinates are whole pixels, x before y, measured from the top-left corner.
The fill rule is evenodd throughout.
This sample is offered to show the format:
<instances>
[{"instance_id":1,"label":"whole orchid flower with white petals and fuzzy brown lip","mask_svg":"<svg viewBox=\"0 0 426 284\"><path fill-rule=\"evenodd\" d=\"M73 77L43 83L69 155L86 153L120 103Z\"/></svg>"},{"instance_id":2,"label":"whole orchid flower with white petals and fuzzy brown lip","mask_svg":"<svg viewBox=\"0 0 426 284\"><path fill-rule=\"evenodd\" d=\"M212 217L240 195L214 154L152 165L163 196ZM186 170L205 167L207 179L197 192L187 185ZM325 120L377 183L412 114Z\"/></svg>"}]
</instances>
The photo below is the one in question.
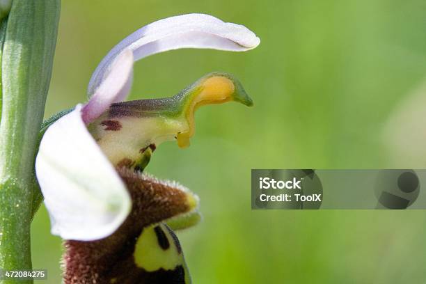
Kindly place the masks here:
<instances>
[{"instance_id":1,"label":"whole orchid flower with white petals and fuzzy brown lip","mask_svg":"<svg viewBox=\"0 0 426 284\"><path fill-rule=\"evenodd\" d=\"M36 159L52 234L68 240L65 283L189 283L173 230L200 219L198 197L143 170L160 143L189 145L198 107L253 102L235 77L221 72L173 97L123 102L133 63L173 49L242 52L259 43L245 26L189 14L148 24L105 56L90 79L88 102L49 126Z\"/></svg>"}]
</instances>

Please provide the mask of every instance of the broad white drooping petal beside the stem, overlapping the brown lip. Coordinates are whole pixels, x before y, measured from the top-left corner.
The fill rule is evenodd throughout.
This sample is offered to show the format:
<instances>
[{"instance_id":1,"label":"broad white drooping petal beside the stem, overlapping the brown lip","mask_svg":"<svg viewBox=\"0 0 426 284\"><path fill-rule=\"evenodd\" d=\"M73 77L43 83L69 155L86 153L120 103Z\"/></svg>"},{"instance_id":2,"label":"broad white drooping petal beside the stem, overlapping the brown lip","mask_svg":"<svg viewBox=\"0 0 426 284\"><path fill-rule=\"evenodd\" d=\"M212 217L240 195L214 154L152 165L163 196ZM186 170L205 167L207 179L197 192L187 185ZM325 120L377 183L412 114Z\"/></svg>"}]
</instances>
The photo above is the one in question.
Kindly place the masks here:
<instances>
[{"instance_id":1,"label":"broad white drooping petal beside the stem, overlapping the brown lip","mask_svg":"<svg viewBox=\"0 0 426 284\"><path fill-rule=\"evenodd\" d=\"M81 105L47 129L36 174L52 234L63 239L107 237L130 212L125 184L86 129Z\"/></svg>"}]
</instances>

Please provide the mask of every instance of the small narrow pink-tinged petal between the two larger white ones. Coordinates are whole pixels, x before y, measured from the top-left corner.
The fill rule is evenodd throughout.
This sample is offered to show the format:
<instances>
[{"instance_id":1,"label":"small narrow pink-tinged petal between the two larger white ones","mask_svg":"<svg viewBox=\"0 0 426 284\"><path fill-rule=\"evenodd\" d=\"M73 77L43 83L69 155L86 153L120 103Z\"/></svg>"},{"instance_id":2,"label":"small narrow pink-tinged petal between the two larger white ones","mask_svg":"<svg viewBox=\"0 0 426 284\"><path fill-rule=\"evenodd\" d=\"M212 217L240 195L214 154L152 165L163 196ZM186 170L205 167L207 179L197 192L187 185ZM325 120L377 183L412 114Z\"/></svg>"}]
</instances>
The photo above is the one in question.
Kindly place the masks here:
<instances>
[{"instance_id":1,"label":"small narrow pink-tinged petal between the two larger white ones","mask_svg":"<svg viewBox=\"0 0 426 284\"><path fill-rule=\"evenodd\" d=\"M121 52L105 74L104 81L81 111L86 124L98 118L114 102L127 97L133 79L133 52L129 49Z\"/></svg>"}]
</instances>

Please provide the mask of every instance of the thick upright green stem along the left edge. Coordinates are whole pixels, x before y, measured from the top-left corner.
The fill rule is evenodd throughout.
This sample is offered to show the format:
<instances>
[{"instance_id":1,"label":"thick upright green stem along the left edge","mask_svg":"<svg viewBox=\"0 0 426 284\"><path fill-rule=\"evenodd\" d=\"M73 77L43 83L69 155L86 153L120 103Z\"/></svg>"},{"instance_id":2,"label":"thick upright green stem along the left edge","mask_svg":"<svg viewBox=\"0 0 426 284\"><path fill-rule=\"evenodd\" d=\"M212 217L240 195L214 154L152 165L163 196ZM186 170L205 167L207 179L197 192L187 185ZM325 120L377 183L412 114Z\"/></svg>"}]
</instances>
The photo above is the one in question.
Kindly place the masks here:
<instances>
[{"instance_id":1,"label":"thick upright green stem along the left edge","mask_svg":"<svg viewBox=\"0 0 426 284\"><path fill-rule=\"evenodd\" d=\"M6 270L31 269L34 157L52 74L59 1L14 0L7 20L0 123L0 267Z\"/></svg>"}]
</instances>

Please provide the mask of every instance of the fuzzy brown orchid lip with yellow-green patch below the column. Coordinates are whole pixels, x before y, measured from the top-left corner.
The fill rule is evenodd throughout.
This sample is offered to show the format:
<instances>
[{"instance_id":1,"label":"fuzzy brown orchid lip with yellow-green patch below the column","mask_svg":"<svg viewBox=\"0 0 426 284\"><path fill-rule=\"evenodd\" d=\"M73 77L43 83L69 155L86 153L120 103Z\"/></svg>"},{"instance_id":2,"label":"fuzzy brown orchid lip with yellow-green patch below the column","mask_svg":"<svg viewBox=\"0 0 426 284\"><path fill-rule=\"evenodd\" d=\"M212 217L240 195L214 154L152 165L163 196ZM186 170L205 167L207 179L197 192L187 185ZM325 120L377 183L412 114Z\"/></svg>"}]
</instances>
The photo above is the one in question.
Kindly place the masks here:
<instances>
[{"instance_id":1,"label":"fuzzy brown orchid lip with yellow-green patch below the column","mask_svg":"<svg viewBox=\"0 0 426 284\"><path fill-rule=\"evenodd\" d=\"M178 237L162 221L194 209L189 192L118 168L132 211L109 237L65 241L64 283L189 283Z\"/></svg>"}]
</instances>

